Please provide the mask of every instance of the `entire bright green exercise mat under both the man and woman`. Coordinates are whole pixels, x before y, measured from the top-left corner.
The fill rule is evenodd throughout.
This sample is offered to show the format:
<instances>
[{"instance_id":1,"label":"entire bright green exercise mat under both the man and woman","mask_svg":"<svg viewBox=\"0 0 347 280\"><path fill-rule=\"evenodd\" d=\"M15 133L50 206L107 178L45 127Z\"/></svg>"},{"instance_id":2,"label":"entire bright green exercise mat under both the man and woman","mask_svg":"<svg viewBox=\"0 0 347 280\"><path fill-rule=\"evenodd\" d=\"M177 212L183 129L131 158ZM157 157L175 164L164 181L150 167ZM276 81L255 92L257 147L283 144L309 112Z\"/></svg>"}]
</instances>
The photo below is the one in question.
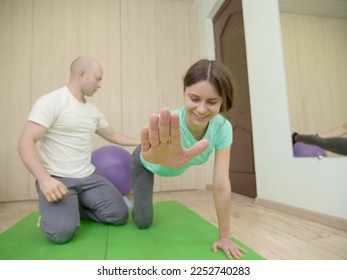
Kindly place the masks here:
<instances>
[{"instance_id":1,"label":"entire bright green exercise mat under both the man and woman","mask_svg":"<svg viewBox=\"0 0 347 280\"><path fill-rule=\"evenodd\" d=\"M154 204L150 228L139 230L132 219L124 226L81 221L75 238L53 244L36 226L38 213L0 235L0 260L226 260L213 253L218 229L175 201ZM131 216L131 215L130 215ZM246 245L243 260L264 259Z\"/></svg>"}]
</instances>

